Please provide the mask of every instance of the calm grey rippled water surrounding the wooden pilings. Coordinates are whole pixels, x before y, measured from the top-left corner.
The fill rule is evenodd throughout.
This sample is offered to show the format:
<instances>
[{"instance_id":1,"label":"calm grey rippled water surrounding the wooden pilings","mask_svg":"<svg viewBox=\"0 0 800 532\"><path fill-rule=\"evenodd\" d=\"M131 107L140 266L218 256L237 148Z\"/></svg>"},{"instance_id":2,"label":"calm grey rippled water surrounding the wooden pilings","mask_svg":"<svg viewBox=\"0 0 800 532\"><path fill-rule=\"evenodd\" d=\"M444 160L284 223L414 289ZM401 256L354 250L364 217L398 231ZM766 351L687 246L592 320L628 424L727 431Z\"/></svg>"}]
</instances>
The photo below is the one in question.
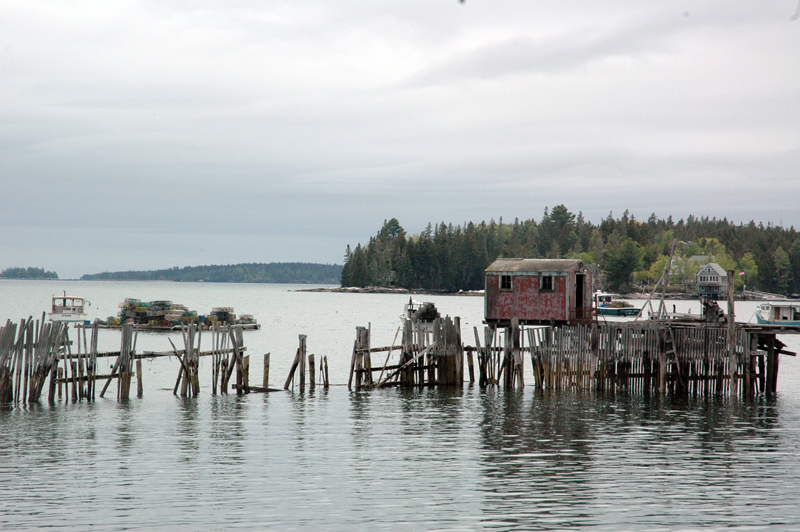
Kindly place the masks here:
<instances>
[{"instance_id":1,"label":"calm grey rippled water surrounding the wooden pilings","mask_svg":"<svg viewBox=\"0 0 800 532\"><path fill-rule=\"evenodd\" d=\"M2 282L0 319L40 315L61 290L89 298L92 317L115 314L125 297L233 306L262 323L245 345L259 363L272 353L273 386L298 334L341 384L355 326L372 322L374 343L388 345L406 300L293 288ZM424 299L461 316L465 338L480 326L481 298ZM797 337L782 340L800 350ZM100 343L117 349L119 333ZM137 349L169 343L143 334ZM176 361L145 362L141 399L0 411L0 529L800 529L797 367L782 358L769 402L530 386L215 397L208 367L204 393L181 399Z\"/></svg>"}]
</instances>

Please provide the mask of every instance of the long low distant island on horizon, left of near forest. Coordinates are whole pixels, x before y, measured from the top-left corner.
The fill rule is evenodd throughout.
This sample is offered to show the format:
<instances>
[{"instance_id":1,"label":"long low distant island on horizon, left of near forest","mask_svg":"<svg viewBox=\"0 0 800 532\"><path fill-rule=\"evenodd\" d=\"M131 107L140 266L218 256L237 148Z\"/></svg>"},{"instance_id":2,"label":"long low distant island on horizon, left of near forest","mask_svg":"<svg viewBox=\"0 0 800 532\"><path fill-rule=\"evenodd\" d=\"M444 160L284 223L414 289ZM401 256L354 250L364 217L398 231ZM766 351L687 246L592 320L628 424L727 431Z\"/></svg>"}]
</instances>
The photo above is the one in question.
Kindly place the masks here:
<instances>
[{"instance_id":1,"label":"long low distant island on horizon, left of near forest","mask_svg":"<svg viewBox=\"0 0 800 532\"><path fill-rule=\"evenodd\" d=\"M210 283L339 284L342 266L304 262L270 262L186 266L166 270L103 272L81 276L82 281L179 281Z\"/></svg>"}]
</instances>

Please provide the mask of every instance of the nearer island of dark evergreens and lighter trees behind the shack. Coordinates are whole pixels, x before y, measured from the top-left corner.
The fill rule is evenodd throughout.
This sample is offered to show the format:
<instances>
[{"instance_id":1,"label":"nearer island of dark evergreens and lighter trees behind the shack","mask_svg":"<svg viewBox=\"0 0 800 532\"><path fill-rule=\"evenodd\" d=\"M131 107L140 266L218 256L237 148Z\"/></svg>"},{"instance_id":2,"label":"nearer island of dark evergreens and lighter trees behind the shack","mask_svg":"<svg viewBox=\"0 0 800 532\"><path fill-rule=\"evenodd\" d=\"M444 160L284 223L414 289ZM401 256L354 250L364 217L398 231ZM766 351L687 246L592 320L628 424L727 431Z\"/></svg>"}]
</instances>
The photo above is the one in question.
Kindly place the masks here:
<instances>
[{"instance_id":1,"label":"nearer island of dark evergreens and lighter trees behind the shack","mask_svg":"<svg viewBox=\"0 0 800 532\"><path fill-rule=\"evenodd\" d=\"M365 245L347 246L343 287L385 286L456 292L483 288L483 272L498 257L577 258L597 264L602 285L646 290L664 271L673 240L673 289L684 291L700 268L716 262L736 270L735 286L779 294L800 292L800 237L794 227L739 224L716 218L647 220L628 211L598 225L558 205L542 219L464 225L428 224L409 235L396 218ZM742 273L743 272L743 273Z\"/></svg>"}]
</instances>

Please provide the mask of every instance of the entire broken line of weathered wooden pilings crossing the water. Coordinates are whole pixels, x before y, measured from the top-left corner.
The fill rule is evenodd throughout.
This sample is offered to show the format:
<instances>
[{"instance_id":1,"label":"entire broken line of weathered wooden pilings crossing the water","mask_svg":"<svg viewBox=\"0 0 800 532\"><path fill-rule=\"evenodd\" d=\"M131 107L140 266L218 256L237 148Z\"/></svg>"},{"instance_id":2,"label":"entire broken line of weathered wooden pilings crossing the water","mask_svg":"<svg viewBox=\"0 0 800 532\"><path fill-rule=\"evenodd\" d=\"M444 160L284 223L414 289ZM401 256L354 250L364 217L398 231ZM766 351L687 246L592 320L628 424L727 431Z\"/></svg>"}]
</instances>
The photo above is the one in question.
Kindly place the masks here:
<instances>
[{"instance_id":1,"label":"entire broken line of weathered wooden pilings crossing the water","mask_svg":"<svg viewBox=\"0 0 800 532\"><path fill-rule=\"evenodd\" d=\"M176 395L200 393L199 361L207 356L212 357L212 394L227 393L229 386L239 394L270 391L269 353L264 355L262 386L250 384L250 357L244 354L241 327L212 328L211 347L206 351L201 350L202 331L187 327L182 331L183 349L170 340L171 352L141 354L136 353L137 331L131 325L122 328L120 351L111 353L98 352L97 325L76 330L72 341L66 324L47 322L44 316L0 327L0 403L37 402L48 377L50 402L62 397L62 385L71 387L73 400L94 399L97 381L105 381L99 393L103 397L115 379L117 398L128 399L133 375L141 396L142 359L162 356L175 356L180 362ZM730 328L652 320L520 327L512 320L509 327L485 327L483 342L478 328L473 330L476 345L467 347L457 317L406 320L390 346L373 347L371 328L357 327L348 387L462 386L465 361L469 382L476 380L473 354L477 354L481 387L525 386L525 358L530 356L533 385L541 390L770 396L777 390L779 355L792 354L783 350L785 346L769 328L745 325ZM401 331L400 345L395 345ZM398 360L390 365L395 351ZM374 364L373 354L378 353L386 353L386 358ZM110 374L98 375L98 358L112 356L116 361ZM236 383L230 384L234 372ZM306 354L306 336L300 335L284 389L294 385L305 389L307 373L313 388L318 380L315 357ZM320 384L328 387L327 356L319 359L319 377Z\"/></svg>"}]
</instances>

